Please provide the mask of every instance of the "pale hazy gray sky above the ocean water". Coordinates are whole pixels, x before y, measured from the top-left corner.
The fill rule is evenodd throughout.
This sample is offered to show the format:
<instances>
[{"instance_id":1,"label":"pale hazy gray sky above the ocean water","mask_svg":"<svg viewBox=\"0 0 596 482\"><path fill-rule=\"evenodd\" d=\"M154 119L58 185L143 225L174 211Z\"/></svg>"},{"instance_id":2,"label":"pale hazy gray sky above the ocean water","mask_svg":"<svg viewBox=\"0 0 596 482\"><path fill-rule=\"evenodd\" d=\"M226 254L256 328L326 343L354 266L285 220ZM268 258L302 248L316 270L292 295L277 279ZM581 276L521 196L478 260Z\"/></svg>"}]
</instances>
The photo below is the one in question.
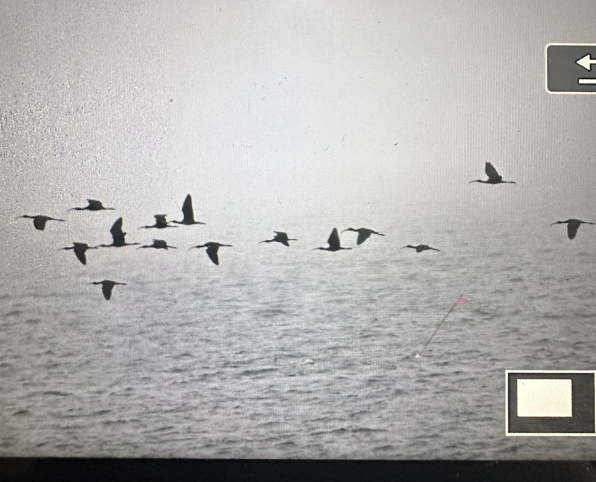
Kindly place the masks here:
<instances>
[{"instance_id":1,"label":"pale hazy gray sky above the ocean water","mask_svg":"<svg viewBox=\"0 0 596 482\"><path fill-rule=\"evenodd\" d=\"M596 96L544 89L545 45L594 41L593 1L0 13L4 222L97 197L148 223L187 192L212 222L594 212ZM485 161L519 184L467 184Z\"/></svg>"}]
</instances>

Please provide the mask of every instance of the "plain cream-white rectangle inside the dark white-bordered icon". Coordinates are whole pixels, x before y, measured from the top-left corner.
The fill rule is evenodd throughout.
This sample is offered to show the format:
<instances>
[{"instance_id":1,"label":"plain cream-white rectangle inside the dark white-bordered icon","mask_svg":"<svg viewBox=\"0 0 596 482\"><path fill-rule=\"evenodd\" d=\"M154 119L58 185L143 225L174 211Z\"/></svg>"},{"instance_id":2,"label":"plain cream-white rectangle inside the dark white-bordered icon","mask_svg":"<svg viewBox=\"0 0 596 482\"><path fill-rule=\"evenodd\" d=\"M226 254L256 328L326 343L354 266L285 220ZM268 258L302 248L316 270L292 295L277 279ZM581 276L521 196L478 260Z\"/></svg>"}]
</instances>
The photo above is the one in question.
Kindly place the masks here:
<instances>
[{"instance_id":1,"label":"plain cream-white rectangle inside the dark white-bordered icon","mask_svg":"<svg viewBox=\"0 0 596 482\"><path fill-rule=\"evenodd\" d=\"M517 416L572 416L569 378L519 378Z\"/></svg>"}]
</instances>

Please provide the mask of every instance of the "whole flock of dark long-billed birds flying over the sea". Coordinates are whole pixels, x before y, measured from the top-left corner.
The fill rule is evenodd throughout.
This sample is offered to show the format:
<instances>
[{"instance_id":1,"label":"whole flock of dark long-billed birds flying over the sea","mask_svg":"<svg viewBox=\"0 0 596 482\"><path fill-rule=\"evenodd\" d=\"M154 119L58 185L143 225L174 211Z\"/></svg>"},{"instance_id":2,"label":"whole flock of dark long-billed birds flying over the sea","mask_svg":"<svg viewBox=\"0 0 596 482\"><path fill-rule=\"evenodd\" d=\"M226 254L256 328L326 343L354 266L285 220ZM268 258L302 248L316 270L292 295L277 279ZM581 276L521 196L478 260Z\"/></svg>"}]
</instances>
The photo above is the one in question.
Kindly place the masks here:
<instances>
[{"instance_id":1,"label":"whole flock of dark long-billed birds flying over the sea","mask_svg":"<svg viewBox=\"0 0 596 482\"><path fill-rule=\"evenodd\" d=\"M503 181L502 176L499 175L499 173L496 171L495 167L493 167L493 165L489 162L487 162L485 164L485 172L486 172L486 175L488 176L488 180L476 179L474 181L470 181L470 183L471 182L480 182L483 184L505 184L505 183L515 184L515 181ZM103 205L103 203L101 203L101 201L98 201L95 199L88 199L87 201L88 201L87 206L73 207L69 210L101 211L101 210L114 210L115 209L113 207L105 207ZM191 226L191 225L196 225L196 224L203 224L203 225L205 224L203 222L200 222L200 221L197 221L194 219L193 199L191 198L190 194L187 195L187 197L184 200L184 203L182 204L182 214L183 214L183 218L181 221L171 221L171 222L178 224L178 225L186 225L186 226ZM23 214L23 216L19 216L19 217L33 219L33 226L35 226L35 229L38 229L39 231L44 231L45 225L48 221L61 221L61 222L65 221L65 219L58 219L56 217L44 216L42 214L37 214L36 216L30 216L29 214ZM154 218L155 218L155 222L153 223L153 225L141 226L141 228L145 228L145 229L178 228L178 226L173 226L172 224L170 224L170 222L166 219L166 214L155 214ZM111 226L111 229L110 229L110 234L112 237L111 244L100 244L98 246L89 246L85 242L73 242L72 246L67 246L67 247L61 248L61 250L74 251L77 259L83 265L86 265L87 264L86 251L88 251L88 250L98 249L100 247L119 248L119 247L124 247L124 246L139 245L140 244L139 242L126 242L126 232L124 232L122 230L122 224L123 224L123 219L122 219L122 217L119 217L116 220L116 222L114 222L113 225ZM578 232L579 226L581 226L582 224L594 225L594 223L592 223L592 222L586 222L586 221L582 221L579 219L567 219L565 221L556 221L556 222L552 223L551 226L555 225L555 224L566 224L567 225L567 235L570 240L573 240L573 238L575 238L575 235ZM141 228L139 228L139 229L141 229ZM347 228L347 229L344 229L342 232L345 232L345 231L353 231L353 232L358 233L358 238L356 240L357 245L360 245L364 241L368 240L368 238L370 238L370 236L373 234L378 235L378 236L384 236L384 234L374 231L373 229L368 229L368 228L357 228L357 229L356 228ZM285 233L283 231L274 231L274 233L275 233L275 237L272 238L271 240L264 240L264 241L260 241L260 242L268 242L268 243L269 242L279 242L280 244L283 244L284 246L289 247L290 246L289 241L297 241L295 238L289 238L287 233ZM342 245L340 243L339 232L337 231L337 228L333 228L333 231L331 231L331 234L330 234L329 238L327 239L327 244L328 245L326 247L318 247L318 248L314 248L314 249L315 250L323 250L323 251L340 251L340 250L352 249L352 248L342 247ZM232 247L232 245L231 244L222 244L220 242L215 242L215 241L209 241L204 244L199 244L199 245L193 246L190 249L206 248L207 256L209 256L209 259L212 260L212 262L215 263L215 265L219 265L218 251L219 251L219 248L221 248L221 247ZM157 239L154 239L152 244L147 244L147 245L142 245L142 246L139 245L138 249L141 249L141 248L155 248L155 249L165 249L165 250L167 250L169 248L176 249L175 246L170 246L169 244L167 244L166 241L157 240ZM421 252L427 251L427 250L440 251L437 248L430 247L427 244L419 244L417 246L408 244L408 245L403 246L403 248L412 248L412 249L416 250L417 253L421 253ZM110 279L104 279L103 281L94 281L94 282L91 282L90 284L101 285L103 295L106 300L110 299L114 286L126 285L126 283L111 281Z\"/></svg>"}]
</instances>

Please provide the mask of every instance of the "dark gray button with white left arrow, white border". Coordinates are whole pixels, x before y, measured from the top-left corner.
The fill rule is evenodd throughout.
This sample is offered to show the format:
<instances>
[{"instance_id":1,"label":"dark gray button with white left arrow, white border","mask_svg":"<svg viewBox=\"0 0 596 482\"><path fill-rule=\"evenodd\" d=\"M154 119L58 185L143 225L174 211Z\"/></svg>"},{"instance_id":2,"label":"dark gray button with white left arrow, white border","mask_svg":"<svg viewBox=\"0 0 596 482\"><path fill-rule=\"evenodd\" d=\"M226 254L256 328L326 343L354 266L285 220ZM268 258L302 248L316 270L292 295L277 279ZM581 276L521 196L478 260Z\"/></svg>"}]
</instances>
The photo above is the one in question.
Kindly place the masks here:
<instances>
[{"instance_id":1,"label":"dark gray button with white left arrow, white border","mask_svg":"<svg viewBox=\"0 0 596 482\"><path fill-rule=\"evenodd\" d=\"M549 43L546 57L548 92L596 93L596 44Z\"/></svg>"}]
</instances>

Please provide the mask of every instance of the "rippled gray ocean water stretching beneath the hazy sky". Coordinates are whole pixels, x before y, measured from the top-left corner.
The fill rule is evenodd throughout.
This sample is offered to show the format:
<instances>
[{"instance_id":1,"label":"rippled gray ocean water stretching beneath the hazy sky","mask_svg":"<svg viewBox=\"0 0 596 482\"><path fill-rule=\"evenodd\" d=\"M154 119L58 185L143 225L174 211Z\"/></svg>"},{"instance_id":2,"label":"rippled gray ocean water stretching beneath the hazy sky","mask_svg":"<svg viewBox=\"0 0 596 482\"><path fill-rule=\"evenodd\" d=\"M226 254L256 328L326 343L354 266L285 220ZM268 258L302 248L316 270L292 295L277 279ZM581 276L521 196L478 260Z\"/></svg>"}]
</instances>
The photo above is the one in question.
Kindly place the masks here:
<instances>
[{"instance_id":1,"label":"rippled gray ocean water stretching beneath the hazy sky","mask_svg":"<svg viewBox=\"0 0 596 482\"><path fill-rule=\"evenodd\" d=\"M288 232L320 244L256 244L247 230L220 266L181 230L169 239L184 249L89 251L82 266L56 251L67 223L29 223L11 229L39 253L0 285L0 455L595 455L589 437L505 436L505 369L595 366L591 226L572 242L539 222L532 236L439 223L426 227L439 253L402 249L392 231L358 247L344 233L354 249L328 253L312 250L327 232L309 220ZM86 284L104 278L128 285L105 301Z\"/></svg>"}]
</instances>

